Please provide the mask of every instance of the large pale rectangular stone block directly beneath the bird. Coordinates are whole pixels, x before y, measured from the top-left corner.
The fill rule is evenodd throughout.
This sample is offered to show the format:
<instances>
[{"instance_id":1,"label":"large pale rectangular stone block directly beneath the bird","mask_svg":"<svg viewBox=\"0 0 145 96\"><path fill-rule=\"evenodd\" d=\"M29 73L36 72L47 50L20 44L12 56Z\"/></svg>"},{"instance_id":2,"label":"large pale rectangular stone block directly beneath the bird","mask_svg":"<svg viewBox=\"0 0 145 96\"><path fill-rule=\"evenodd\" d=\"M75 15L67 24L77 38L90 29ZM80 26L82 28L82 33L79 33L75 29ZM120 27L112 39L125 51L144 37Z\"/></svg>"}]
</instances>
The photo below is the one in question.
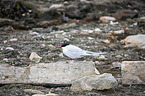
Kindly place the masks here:
<instances>
[{"instance_id":1,"label":"large pale rectangular stone block directly beneath the bird","mask_svg":"<svg viewBox=\"0 0 145 96\"><path fill-rule=\"evenodd\" d=\"M34 83L71 84L93 74L96 74L93 62L62 61L32 66L29 78Z\"/></svg>"}]
</instances>

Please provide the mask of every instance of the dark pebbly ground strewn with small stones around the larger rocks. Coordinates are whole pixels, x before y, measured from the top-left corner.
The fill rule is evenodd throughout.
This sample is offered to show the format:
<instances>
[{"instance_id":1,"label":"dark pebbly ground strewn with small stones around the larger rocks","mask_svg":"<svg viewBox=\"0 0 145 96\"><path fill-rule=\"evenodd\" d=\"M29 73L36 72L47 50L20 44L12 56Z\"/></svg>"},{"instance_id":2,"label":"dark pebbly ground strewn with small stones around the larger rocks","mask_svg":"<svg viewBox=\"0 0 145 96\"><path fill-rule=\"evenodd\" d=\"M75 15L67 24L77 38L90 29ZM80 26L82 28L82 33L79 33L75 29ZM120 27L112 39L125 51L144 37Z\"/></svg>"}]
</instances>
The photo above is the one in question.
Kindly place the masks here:
<instances>
[{"instance_id":1,"label":"dark pebbly ground strewn with small stones around the larger rocks","mask_svg":"<svg viewBox=\"0 0 145 96\"><path fill-rule=\"evenodd\" d=\"M10 7L5 6L8 4L6 1L0 2L2 5L0 9L1 64L22 67L34 64L35 61L29 59L31 52L36 52L42 57L40 63L66 61L68 57L63 55L62 50L57 49L57 46L69 42L84 50L108 52L104 56L87 56L75 60L95 62L100 73L112 73L118 79L119 85L103 91L72 92L70 86L1 84L1 96L31 96L35 93L27 92L25 89L33 89L45 94L52 92L60 96L145 95L143 84L123 85L121 83L121 68L120 65L116 65L116 62L118 64L122 61L145 60L144 49L137 46L127 47L124 41L127 36L145 33L145 21L139 20L145 16L143 0L103 2L99 5L93 5L94 3L91 2L80 3L78 0L64 0L63 2L36 0L33 3L27 2L27 4L22 1L12 2ZM55 8L47 10L54 3L64 5L59 5L59 10ZM29 4L31 7L28 6ZM40 14L34 4L39 5L39 10L45 9L46 12ZM113 16L117 20L113 22L99 20L104 15ZM7 19L3 19L4 17Z\"/></svg>"}]
</instances>

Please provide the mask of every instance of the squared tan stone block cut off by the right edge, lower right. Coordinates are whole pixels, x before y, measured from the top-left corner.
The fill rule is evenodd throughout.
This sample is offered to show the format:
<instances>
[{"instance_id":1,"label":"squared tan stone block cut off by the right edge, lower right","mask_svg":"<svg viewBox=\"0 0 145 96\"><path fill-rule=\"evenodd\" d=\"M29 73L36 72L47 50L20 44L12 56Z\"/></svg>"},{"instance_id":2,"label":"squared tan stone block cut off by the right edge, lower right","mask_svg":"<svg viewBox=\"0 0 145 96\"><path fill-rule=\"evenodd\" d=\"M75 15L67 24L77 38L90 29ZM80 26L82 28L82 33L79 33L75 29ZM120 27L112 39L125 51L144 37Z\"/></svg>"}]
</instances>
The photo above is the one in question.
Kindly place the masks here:
<instances>
[{"instance_id":1,"label":"squared tan stone block cut off by the right edge, lower right","mask_svg":"<svg viewBox=\"0 0 145 96\"><path fill-rule=\"evenodd\" d=\"M145 84L145 61L123 61L121 74L123 84Z\"/></svg>"}]
</instances>

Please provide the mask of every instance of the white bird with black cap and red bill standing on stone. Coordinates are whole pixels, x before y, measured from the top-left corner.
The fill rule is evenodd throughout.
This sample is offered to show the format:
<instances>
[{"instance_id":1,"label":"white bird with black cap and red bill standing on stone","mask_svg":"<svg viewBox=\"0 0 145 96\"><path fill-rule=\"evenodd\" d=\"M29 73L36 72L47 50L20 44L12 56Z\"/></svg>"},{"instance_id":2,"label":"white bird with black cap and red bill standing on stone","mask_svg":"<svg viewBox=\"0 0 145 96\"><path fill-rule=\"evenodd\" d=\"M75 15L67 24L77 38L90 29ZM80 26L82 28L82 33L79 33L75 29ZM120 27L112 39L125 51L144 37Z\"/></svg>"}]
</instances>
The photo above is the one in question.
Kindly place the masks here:
<instances>
[{"instance_id":1,"label":"white bird with black cap and red bill standing on stone","mask_svg":"<svg viewBox=\"0 0 145 96\"><path fill-rule=\"evenodd\" d=\"M75 58L81 58L83 56L97 56L100 54L106 54L107 52L97 53L97 52L90 52L82 50L81 48L71 45L69 43L64 43L58 48L62 48L63 53L70 58L70 60Z\"/></svg>"}]
</instances>

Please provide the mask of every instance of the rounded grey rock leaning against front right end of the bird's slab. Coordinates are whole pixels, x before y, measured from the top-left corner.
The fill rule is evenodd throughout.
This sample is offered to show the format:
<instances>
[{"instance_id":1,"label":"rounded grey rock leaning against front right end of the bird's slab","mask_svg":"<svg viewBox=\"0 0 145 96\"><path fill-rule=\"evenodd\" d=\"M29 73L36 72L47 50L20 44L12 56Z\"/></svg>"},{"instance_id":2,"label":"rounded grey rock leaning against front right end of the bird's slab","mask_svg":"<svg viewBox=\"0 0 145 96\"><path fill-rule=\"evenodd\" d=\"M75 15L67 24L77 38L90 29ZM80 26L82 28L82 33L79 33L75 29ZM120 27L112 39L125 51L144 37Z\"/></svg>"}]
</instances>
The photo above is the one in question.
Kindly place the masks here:
<instances>
[{"instance_id":1,"label":"rounded grey rock leaning against front right end of the bird's slab","mask_svg":"<svg viewBox=\"0 0 145 96\"><path fill-rule=\"evenodd\" d=\"M91 75L83 77L73 82L71 86L72 91L91 91L92 89L104 90L117 86L116 79L112 74L104 73L101 75Z\"/></svg>"}]
</instances>

